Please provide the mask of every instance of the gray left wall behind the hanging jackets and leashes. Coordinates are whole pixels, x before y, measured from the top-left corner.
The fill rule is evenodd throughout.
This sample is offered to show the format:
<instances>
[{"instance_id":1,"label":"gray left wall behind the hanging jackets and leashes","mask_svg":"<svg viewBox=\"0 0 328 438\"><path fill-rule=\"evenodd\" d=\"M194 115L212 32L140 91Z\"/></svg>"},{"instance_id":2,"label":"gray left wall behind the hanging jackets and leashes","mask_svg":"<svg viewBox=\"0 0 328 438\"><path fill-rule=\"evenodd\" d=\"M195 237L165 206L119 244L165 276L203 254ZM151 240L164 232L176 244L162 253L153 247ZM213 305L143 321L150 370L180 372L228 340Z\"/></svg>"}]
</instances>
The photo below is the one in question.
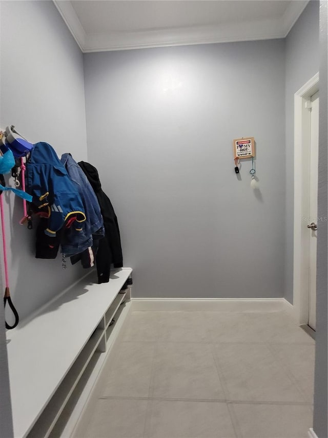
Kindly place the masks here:
<instances>
[{"instance_id":1,"label":"gray left wall behind the hanging jackets and leashes","mask_svg":"<svg viewBox=\"0 0 328 438\"><path fill-rule=\"evenodd\" d=\"M83 55L52 2L0 2L0 127L14 124L35 143L59 155L87 158ZM7 177L8 181L8 177ZM12 183L12 179L10 179ZM35 230L18 221L22 201L5 196L10 290L24 318L80 277L79 266L61 269L61 258L34 258Z\"/></svg>"}]
</instances>

